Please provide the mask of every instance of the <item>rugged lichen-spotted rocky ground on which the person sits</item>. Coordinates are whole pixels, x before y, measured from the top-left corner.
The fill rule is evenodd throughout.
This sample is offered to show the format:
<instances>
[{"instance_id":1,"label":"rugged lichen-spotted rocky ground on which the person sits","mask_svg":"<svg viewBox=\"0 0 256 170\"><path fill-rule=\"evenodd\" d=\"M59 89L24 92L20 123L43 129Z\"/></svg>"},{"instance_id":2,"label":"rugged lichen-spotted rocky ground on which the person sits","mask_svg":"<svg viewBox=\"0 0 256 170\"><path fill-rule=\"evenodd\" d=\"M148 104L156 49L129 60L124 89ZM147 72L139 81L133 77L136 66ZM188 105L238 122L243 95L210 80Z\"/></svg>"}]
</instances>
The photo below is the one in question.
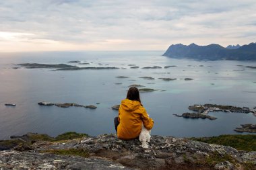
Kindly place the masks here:
<instances>
[{"instance_id":1,"label":"rugged lichen-spotted rocky ground on which the person sits","mask_svg":"<svg viewBox=\"0 0 256 170\"><path fill-rule=\"evenodd\" d=\"M150 148L115 134L36 140L32 134L0 152L0 169L256 169L256 152L185 138L152 136ZM0 142L1 144L1 142Z\"/></svg>"}]
</instances>

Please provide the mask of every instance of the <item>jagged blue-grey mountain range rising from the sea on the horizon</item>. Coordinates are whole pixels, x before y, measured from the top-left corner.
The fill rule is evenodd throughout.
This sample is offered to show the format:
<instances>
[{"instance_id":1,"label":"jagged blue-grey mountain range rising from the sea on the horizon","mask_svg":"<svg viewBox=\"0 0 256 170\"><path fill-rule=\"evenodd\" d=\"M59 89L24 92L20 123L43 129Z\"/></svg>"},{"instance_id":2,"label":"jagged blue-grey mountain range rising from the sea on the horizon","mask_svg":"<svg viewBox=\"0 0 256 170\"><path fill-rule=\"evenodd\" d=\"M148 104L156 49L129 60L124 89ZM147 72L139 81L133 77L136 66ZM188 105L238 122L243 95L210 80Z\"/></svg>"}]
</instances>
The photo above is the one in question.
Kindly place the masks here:
<instances>
[{"instance_id":1,"label":"jagged blue-grey mountain range rising from the sea on the horizon","mask_svg":"<svg viewBox=\"0 0 256 170\"><path fill-rule=\"evenodd\" d=\"M256 43L248 45L227 46L218 44L198 46L175 44L169 46L163 56L172 58L193 58L198 60L256 60Z\"/></svg>"}]
</instances>

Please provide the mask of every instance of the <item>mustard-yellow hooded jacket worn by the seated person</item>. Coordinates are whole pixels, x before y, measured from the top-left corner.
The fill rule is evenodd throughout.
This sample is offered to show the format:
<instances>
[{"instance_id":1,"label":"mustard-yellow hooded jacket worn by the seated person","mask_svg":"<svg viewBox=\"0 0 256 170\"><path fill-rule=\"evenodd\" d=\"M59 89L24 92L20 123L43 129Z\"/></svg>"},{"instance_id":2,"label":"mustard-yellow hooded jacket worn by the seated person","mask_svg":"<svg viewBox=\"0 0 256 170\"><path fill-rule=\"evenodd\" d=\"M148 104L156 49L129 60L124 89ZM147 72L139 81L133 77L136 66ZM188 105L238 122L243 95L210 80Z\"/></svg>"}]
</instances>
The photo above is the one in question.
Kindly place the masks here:
<instances>
[{"instance_id":1,"label":"mustard-yellow hooded jacket worn by the seated person","mask_svg":"<svg viewBox=\"0 0 256 170\"><path fill-rule=\"evenodd\" d=\"M141 125L150 130L154 120L150 118L139 101L123 99L119 108L119 126L117 137L125 140L137 138L141 132Z\"/></svg>"}]
</instances>

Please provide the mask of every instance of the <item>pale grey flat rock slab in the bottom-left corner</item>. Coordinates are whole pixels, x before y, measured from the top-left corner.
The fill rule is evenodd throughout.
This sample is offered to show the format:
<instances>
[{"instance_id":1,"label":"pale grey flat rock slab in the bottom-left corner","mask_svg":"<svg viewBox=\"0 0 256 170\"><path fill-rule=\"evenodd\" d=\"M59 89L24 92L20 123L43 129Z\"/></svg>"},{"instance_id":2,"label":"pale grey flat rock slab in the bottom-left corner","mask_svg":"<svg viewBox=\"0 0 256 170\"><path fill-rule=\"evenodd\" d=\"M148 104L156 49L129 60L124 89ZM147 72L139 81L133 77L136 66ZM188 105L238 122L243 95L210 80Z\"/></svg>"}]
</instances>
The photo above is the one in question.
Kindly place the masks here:
<instances>
[{"instance_id":1,"label":"pale grey flat rock slab in the bottom-left corner","mask_svg":"<svg viewBox=\"0 0 256 170\"><path fill-rule=\"evenodd\" d=\"M106 159L51 153L3 151L0 152L0 160L0 169L129 169Z\"/></svg>"}]
</instances>

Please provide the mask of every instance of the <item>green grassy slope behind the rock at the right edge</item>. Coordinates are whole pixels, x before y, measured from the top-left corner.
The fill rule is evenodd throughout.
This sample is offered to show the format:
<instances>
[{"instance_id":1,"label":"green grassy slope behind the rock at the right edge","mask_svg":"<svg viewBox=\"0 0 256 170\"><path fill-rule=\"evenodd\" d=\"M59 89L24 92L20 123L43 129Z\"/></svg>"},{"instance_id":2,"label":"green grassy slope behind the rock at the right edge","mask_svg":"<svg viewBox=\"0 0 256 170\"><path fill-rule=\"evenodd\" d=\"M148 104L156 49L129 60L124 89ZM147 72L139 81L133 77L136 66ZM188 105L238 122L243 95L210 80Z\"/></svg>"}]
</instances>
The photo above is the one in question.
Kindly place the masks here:
<instances>
[{"instance_id":1,"label":"green grassy slope behind the rock at the right edge","mask_svg":"<svg viewBox=\"0 0 256 170\"><path fill-rule=\"evenodd\" d=\"M203 138L190 138L191 140L197 140L200 142L220 144L225 146L231 146L237 150L243 151L256 151L256 135L255 134L227 134L213 137Z\"/></svg>"}]
</instances>

